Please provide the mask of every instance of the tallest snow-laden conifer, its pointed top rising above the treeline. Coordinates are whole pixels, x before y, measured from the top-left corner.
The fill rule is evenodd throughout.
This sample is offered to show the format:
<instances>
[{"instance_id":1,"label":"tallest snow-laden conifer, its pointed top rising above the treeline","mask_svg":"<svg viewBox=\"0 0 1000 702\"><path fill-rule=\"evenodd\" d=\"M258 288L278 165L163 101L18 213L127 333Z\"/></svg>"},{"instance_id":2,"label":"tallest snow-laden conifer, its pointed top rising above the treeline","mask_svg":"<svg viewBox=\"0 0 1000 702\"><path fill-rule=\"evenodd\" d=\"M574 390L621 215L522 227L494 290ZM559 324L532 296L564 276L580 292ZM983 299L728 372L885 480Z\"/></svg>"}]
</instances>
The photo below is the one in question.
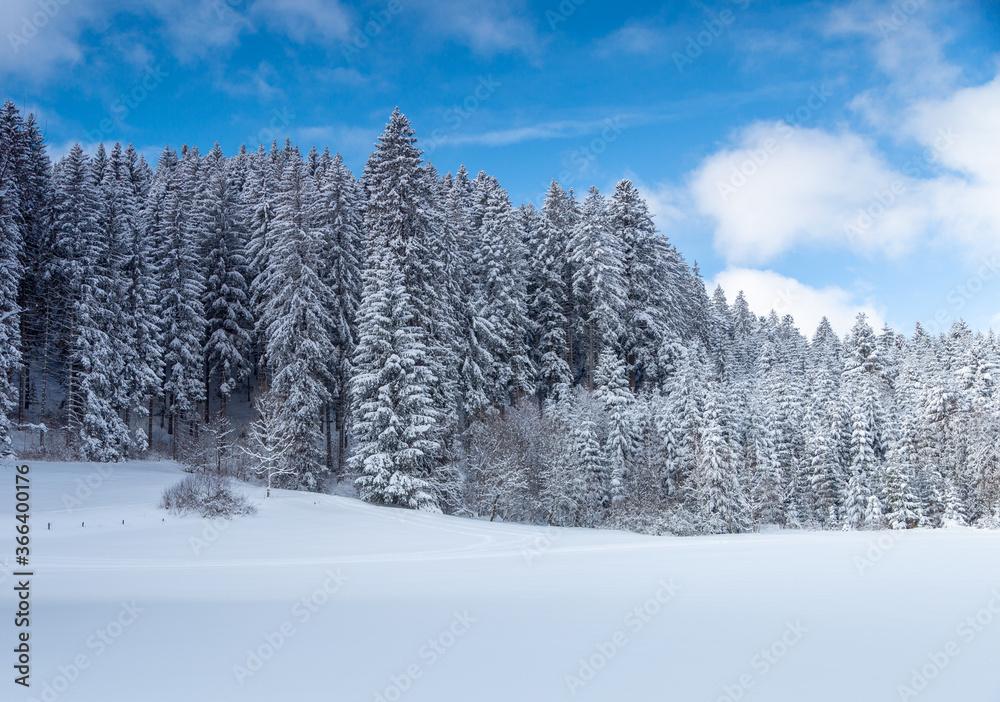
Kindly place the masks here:
<instances>
[{"instance_id":1,"label":"tallest snow-laden conifer, its pointed top rising above the treeline","mask_svg":"<svg viewBox=\"0 0 1000 702\"><path fill-rule=\"evenodd\" d=\"M365 167L369 241L351 385L352 466L362 499L438 509L429 481L442 458L436 288L426 259L437 207L409 122L395 110Z\"/></svg>"}]
</instances>

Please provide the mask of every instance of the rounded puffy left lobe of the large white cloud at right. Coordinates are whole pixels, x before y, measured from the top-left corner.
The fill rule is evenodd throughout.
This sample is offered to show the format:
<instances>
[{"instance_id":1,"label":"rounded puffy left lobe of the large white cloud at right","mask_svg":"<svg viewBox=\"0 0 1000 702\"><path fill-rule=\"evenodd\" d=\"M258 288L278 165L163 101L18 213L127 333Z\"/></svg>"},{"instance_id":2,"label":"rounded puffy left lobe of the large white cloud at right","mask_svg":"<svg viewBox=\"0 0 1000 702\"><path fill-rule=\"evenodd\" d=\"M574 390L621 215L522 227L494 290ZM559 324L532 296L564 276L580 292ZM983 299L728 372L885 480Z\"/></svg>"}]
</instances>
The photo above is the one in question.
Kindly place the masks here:
<instances>
[{"instance_id":1,"label":"rounded puffy left lobe of the large white cloud at right","mask_svg":"<svg viewBox=\"0 0 1000 702\"><path fill-rule=\"evenodd\" d=\"M690 187L698 211L716 222L716 249L730 262L761 263L802 243L899 253L915 233L899 206L912 199L910 179L850 132L754 124L735 146L702 161ZM859 209L877 210L880 195L893 206L852 237L848 225Z\"/></svg>"}]
</instances>

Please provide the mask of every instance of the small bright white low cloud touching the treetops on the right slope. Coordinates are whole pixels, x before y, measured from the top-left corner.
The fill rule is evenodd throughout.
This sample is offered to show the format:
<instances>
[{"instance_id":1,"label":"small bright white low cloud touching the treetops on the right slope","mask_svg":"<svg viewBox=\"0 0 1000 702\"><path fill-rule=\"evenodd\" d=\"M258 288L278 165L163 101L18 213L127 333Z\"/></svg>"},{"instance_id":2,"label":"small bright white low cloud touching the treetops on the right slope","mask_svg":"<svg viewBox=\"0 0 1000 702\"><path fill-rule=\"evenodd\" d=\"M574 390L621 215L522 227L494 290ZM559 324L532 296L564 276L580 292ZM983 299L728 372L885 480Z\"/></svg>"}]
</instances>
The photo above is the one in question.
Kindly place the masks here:
<instances>
[{"instance_id":1,"label":"small bright white low cloud touching the treetops on the right slope","mask_svg":"<svg viewBox=\"0 0 1000 702\"><path fill-rule=\"evenodd\" d=\"M754 314L767 316L774 310L779 316L792 315L796 326L807 337L812 337L824 316L840 335L850 331L859 312L868 315L875 329L885 323L879 309L870 302L856 301L855 296L843 288L813 288L774 271L728 268L707 285L709 294L716 285L721 285L730 304L742 290Z\"/></svg>"}]
</instances>

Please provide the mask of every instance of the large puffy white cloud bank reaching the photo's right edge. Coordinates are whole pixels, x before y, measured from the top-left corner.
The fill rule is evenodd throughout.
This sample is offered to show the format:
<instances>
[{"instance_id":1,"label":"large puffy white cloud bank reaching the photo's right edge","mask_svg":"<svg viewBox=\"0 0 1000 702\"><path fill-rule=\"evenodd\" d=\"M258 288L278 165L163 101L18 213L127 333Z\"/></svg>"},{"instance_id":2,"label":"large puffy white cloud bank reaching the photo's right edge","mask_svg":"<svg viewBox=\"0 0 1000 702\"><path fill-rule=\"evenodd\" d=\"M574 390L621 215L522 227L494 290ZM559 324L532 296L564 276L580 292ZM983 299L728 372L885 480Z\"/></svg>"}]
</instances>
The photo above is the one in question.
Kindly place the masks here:
<instances>
[{"instance_id":1,"label":"large puffy white cloud bank reaching the photo's right edge","mask_svg":"<svg viewBox=\"0 0 1000 702\"><path fill-rule=\"evenodd\" d=\"M802 245L899 256L920 242L978 255L1000 231L1000 76L896 118L916 154L899 165L852 131L756 123L690 178L730 263ZM947 171L942 172L944 167Z\"/></svg>"}]
</instances>

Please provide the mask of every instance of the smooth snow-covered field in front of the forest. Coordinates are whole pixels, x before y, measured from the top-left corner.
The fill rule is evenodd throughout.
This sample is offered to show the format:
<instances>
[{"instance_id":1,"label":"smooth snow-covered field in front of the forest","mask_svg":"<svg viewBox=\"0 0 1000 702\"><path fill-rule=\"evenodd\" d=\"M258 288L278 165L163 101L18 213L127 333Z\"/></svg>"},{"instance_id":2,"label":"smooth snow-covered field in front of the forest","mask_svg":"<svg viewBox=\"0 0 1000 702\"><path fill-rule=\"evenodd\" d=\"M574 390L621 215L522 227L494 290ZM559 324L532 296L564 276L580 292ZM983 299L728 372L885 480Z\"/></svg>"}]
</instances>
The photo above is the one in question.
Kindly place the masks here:
<instances>
[{"instance_id":1,"label":"smooth snow-covered field in front of the forest","mask_svg":"<svg viewBox=\"0 0 1000 702\"><path fill-rule=\"evenodd\" d=\"M1000 699L1000 533L653 538L253 487L220 528L156 508L181 477L31 463L33 684L8 576L2 699Z\"/></svg>"}]
</instances>

